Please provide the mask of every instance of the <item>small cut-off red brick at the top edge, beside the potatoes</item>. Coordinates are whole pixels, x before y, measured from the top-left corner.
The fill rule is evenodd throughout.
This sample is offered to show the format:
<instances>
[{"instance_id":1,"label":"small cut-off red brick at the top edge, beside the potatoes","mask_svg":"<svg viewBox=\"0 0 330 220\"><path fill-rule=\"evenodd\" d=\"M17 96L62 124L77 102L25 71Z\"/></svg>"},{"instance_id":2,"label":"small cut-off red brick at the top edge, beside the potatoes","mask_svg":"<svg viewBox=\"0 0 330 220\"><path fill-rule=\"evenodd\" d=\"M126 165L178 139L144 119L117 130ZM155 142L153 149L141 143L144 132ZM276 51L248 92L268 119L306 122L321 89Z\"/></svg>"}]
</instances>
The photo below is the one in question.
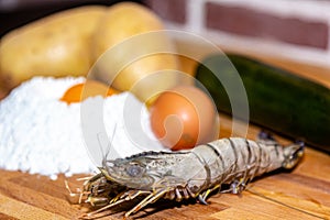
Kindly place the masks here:
<instances>
[{"instance_id":1,"label":"small cut-off red brick at the top edge, beside the potatoes","mask_svg":"<svg viewBox=\"0 0 330 220\"><path fill-rule=\"evenodd\" d=\"M144 2L162 19L186 23L186 0L144 0Z\"/></svg>"}]
</instances>

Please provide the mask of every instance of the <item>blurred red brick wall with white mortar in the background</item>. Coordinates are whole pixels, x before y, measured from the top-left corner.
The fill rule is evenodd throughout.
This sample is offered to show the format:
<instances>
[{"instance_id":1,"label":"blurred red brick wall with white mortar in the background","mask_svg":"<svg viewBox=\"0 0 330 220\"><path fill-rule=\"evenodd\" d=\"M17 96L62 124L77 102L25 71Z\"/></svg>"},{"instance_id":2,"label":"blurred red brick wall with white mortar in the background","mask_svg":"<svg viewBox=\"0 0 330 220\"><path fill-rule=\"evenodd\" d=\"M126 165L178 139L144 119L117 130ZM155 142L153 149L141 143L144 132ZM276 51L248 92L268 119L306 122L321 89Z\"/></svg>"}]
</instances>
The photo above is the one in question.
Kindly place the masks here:
<instances>
[{"instance_id":1,"label":"blurred red brick wall with white mortar in the background","mask_svg":"<svg viewBox=\"0 0 330 220\"><path fill-rule=\"evenodd\" d=\"M220 47L330 66L330 0L144 0ZM330 76L330 73L329 73Z\"/></svg>"}]
</instances>

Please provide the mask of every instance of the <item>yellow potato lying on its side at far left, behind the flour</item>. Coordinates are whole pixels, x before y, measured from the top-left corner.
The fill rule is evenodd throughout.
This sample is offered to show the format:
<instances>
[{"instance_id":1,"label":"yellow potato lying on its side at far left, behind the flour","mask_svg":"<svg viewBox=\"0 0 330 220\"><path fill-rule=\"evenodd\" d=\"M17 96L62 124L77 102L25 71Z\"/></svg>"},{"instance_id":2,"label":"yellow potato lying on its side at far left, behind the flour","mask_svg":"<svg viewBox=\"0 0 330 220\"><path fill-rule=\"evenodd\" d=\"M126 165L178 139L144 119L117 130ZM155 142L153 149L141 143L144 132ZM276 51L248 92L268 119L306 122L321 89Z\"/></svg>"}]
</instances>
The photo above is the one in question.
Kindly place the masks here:
<instances>
[{"instance_id":1,"label":"yellow potato lying on its side at far left, behind the flour","mask_svg":"<svg viewBox=\"0 0 330 220\"><path fill-rule=\"evenodd\" d=\"M91 34L107 7L80 7L16 29L0 43L0 77L9 88L33 76L89 72Z\"/></svg>"}]
</instances>

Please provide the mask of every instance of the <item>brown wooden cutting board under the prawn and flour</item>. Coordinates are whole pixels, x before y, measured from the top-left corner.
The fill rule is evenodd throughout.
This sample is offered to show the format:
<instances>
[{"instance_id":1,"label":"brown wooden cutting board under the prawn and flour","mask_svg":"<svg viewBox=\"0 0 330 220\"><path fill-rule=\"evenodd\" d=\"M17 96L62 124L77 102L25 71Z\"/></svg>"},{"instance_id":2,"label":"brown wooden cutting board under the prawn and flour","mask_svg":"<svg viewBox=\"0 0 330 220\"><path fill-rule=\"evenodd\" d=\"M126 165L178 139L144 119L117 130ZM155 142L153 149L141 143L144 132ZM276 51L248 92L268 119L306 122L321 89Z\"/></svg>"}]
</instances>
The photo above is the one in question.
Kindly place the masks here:
<instances>
[{"instance_id":1,"label":"brown wooden cutting board under the prawn and flour","mask_svg":"<svg viewBox=\"0 0 330 220\"><path fill-rule=\"evenodd\" d=\"M271 61L273 64L278 63L277 59ZM310 68L282 61L278 64L301 74ZM330 85L330 75L324 73L322 69L314 72L311 78ZM220 118L220 135L231 135L231 120L224 116ZM250 125L248 136L254 139L258 130ZM287 140L280 141L287 143ZM76 189L81 185L77 180L81 176L84 175L70 178L59 176L57 180L51 180L44 176L0 169L0 219L77 219L89 207L70 204L73 198L69 197L64 182L68 180L70 187ZM330 155L307 147L304 160L293 172L266 175L255 179L239 196L218 194L211 196L208 202L205 206L194 200L162 200L133 217L150 220L330 219ZM130 205L101 219L122 219Z\"/></svg>"}]
</instances>

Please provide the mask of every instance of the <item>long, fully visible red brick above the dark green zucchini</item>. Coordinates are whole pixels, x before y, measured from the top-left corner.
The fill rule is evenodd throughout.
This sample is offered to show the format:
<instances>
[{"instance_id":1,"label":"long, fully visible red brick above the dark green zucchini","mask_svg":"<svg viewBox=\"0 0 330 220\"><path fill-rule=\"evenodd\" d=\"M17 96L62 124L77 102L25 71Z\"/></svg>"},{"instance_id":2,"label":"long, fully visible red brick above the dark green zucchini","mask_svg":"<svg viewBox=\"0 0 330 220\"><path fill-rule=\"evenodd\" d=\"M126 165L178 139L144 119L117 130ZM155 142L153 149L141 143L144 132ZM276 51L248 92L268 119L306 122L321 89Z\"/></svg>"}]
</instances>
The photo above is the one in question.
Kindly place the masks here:
<instances>
[{"instance_id":1,"label":"long, fully visible red brick above the dark green zucchini","mask_svg":"<svg viewBox=\"0 0 330 220\"><path fill-rule=\"evenodd\" d=\"M235 34L277 40L290 44L327 50L326 22L276 16L240 7L208 2L206 26Z\"/></svg>"}]
</instances>

